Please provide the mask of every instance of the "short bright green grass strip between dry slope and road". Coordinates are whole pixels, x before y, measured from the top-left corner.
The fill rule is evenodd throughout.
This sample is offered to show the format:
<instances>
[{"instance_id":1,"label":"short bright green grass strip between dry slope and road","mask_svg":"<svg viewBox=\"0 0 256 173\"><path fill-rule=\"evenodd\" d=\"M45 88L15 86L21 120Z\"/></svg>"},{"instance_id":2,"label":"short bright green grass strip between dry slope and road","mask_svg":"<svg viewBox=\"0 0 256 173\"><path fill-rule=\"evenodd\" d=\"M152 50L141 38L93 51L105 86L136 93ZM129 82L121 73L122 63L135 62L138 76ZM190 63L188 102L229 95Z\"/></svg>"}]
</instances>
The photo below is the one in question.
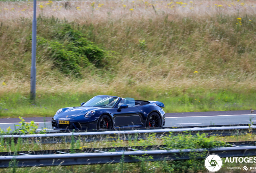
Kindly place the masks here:
<instances>
[{"instance_id":1,"label":"short bright green grass strip between dry slope and road","mask_svg":"<svg viewBox=\"0 0 256 173\"><path fill-rule=\"evenodd\" d=\"M60 108L80 106L82 102L86 102L92 97L94 95L83 93L38 93L37 100L33 102L29 99L29 95L7 93L0 99L0 117L51 117ZM149 96L145 92L144 96L141 95L135 99L161 101L165 104L164 111L166 113L235 110L248 110L250 113L250 108L256 107L255 97L256 93L244 95L227 91L217 93L205 91L203 93L179 94L178 96L166 94L155 97L150 96L149 91Z\"/></svg>"}]
</instances>

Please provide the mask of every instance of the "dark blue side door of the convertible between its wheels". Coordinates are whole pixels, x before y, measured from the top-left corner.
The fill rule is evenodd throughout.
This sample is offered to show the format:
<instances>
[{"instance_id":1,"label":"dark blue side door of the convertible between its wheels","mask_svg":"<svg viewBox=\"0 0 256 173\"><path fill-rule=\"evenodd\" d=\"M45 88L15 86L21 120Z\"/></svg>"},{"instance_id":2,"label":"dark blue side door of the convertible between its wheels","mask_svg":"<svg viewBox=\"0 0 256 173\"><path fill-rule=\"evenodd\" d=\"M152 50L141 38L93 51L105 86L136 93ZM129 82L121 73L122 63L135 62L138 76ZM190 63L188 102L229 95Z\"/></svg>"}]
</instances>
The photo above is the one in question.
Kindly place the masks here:
<instances>
[{"instance_id":1,"label":"dark blue side door of the convertible between its wheels","mask_svg":"<svg viewBox=\"0 0 256 173\"><path fill-rule=\"evenodd\" d=\"M140 110L138 107L128 107L118 111L118 108L114 113L114 123L116 127L134 126L137 122L140 122Z\"/></svg>"}]
</instances>

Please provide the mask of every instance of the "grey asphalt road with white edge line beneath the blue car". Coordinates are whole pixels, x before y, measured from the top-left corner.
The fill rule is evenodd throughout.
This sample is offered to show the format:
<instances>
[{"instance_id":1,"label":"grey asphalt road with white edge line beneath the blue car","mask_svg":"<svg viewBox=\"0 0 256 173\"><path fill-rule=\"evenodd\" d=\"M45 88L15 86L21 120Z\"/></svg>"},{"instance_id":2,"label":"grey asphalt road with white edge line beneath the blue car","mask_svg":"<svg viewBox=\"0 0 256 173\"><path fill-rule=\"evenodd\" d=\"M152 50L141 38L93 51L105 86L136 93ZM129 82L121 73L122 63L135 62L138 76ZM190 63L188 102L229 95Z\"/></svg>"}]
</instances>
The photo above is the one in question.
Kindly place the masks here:
<instances>
[{"instance_id":1,"label":"grey asphalt road with white edge line beneath the blue car","mask_svg":"<svg viewBox=\"0 0 256 173\"><path fill-rule=\"evenodd\" d=\"M252 121L256 121L256 114L251 114L248 111L216 111L216 112L192 112L192 113L166 113L165 127L186 127L186 126L202 126L202 125L234 125L234 124L248 124L250 117ZM254 117L254 118L253 118ZM35 117L24 118L25 121L34 121L39 124L39 129L43 128L52 130L52 117ZM15 125L19 125L19 118L0 119L1 129L14 130ZM18 128L18 127L17 127Z\"/></svg>"}]
</instances>

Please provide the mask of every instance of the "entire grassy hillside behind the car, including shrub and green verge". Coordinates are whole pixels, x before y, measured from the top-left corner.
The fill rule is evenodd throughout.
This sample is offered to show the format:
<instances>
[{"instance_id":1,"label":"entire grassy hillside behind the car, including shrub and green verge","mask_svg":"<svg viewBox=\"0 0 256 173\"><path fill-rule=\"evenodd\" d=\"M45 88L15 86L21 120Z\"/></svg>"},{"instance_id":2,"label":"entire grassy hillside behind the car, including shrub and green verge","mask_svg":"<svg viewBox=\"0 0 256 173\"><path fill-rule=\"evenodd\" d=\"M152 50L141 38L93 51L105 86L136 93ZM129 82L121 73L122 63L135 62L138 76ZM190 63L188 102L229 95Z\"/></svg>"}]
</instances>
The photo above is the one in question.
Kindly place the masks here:
<instances>
[{"instance_id":1,"label":"entire grassy hillside behind the car, including shrub and green verge","mask_svg":"<svg viewBox=\"0 0 256 173\"><path fill-rule=\"evenodd\" d=\"M50 116L98 94L166 112L256 106L255 1L39 1L35 103L32 5L0 2L1 117Z\"/></svg>"}]
</instances>

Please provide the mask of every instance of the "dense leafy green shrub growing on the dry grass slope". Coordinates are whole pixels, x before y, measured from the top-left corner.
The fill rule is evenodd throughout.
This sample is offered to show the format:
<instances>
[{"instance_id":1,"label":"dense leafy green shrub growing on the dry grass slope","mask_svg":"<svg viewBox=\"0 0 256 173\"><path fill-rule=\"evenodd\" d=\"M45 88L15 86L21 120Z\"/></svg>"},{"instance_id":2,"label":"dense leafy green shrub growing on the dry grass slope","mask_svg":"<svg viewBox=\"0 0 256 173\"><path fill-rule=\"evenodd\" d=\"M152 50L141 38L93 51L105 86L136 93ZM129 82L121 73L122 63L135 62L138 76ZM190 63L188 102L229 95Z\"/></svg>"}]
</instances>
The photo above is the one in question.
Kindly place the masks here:
<instances>
[{"instance_id":1,"label":"dense leafy green shrub growing on the dry grass slope","mask_svg":"<svg viewBox=\"0 0 256 173\"><path fill-rule=\"evenodd\" d=\"M37 45L47 48L50 58L54 59L54 67L66 74L79 74L81 68L93 65L99 68L107 64L108 51L88 41L86 34L74 30L70 24L62 25L62 30L51 32L52 37L56 39L54 41L37 37Z\"/></svg>"}]
</instances>

